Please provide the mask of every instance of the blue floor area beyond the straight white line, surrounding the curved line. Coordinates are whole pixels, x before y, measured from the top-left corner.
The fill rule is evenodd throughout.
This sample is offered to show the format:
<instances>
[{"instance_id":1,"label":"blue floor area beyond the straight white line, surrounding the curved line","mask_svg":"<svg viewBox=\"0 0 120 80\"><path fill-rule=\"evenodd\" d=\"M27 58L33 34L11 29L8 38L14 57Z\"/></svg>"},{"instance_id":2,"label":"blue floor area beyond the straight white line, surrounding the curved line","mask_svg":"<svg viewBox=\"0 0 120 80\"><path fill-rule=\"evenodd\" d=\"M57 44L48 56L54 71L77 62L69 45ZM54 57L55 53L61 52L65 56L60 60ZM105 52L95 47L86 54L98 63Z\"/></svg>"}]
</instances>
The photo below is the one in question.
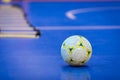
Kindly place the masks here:
<instances>
[{"instance_id":1,"label":"blue floor area beyond the straight white line, surrounding the curved line","mask_svg":"<svg viewBox=\"0 0 120 80\"><path fill-rule=\"evenodd\" d=\"M67 11L74 9L119 7L119 5L119 2L33 2L28 5L30 8L28 15L31 23L36 26L120 25L120 9L77 14L76 20L70 20L65 15Z\"/></svg>"}]
</instances>

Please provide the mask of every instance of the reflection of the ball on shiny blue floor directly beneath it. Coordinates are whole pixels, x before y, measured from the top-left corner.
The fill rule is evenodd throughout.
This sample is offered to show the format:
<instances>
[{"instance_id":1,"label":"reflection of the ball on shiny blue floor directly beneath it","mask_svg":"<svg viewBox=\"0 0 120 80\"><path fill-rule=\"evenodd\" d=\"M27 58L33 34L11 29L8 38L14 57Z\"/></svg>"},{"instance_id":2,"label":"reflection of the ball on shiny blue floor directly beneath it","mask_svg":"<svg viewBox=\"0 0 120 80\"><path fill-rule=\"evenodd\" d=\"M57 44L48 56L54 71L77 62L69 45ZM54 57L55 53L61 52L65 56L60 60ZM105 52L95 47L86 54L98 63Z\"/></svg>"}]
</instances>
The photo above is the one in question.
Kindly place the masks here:
<instances>
[{"instance_id":1,"label":"reflection of the ball on shiny blue floor directly beneath it","mask_svg":"<svg viewBox=\"0 0 120 80\"><path fill-rule=\"evenodd\" d=\"M88 66L71 67L63 66L61 72L61 80L90 80Z\"/></svg>"}]
</instances>

